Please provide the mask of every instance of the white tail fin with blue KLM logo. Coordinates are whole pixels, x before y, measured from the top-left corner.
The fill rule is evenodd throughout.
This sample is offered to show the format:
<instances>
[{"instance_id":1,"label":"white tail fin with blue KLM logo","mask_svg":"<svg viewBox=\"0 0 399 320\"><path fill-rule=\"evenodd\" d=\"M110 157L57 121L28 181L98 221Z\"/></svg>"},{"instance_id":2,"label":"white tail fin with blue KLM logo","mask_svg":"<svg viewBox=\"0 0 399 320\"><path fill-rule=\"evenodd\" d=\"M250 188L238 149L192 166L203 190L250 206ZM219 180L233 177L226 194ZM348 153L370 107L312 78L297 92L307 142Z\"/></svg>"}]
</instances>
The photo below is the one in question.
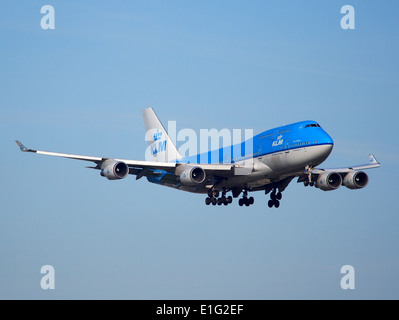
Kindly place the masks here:
<instances>
[{"instance_id":1,"label":"white tail fin with blue KLM logo","mask_svg":"<svg viewBox=\"0 0 399 320\"><path fill-rule=\"evenodd\" d=\"M152 108L143 111L144 124L146 129L146 141L149 147L146 152L146 159L157 162L174 162L181 159L179 151L170 139L167 131L159 121Z\"/></svg>"}]
</instances>

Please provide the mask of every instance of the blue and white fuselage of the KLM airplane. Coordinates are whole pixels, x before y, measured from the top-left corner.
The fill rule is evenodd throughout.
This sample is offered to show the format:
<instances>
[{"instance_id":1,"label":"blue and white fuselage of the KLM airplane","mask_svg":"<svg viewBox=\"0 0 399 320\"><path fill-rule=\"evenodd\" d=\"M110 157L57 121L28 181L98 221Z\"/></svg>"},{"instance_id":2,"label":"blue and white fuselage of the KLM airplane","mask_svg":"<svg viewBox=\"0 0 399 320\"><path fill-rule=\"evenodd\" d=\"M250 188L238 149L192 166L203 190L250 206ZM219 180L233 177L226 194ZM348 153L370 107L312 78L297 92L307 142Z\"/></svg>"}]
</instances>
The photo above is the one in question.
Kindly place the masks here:
<instances>
[{"instance_id":1,"label":"blue and white fuselage of the KLM airplane","mask_svg":"<svg viewBox=\"0 0 399 320\"><path fill-rule=\"evenodd\" d=\"M314 121L302 121L264 131L244 142L215 148L194 156L181 158L177 163L232 164L245 168L243 174L235 171L233 176L217 183L226 188L256 189L288 177L298 176L306 168L315 167L330 155L334 142L332 138ZM238 170L238 169L237 169ZM189 187L173 178L173 174L156 170L157 176L147 177L156 184L197 193L207 192L207 183ZM167 177L171 177L167 179Z\"/></svg>"}]
</instances>

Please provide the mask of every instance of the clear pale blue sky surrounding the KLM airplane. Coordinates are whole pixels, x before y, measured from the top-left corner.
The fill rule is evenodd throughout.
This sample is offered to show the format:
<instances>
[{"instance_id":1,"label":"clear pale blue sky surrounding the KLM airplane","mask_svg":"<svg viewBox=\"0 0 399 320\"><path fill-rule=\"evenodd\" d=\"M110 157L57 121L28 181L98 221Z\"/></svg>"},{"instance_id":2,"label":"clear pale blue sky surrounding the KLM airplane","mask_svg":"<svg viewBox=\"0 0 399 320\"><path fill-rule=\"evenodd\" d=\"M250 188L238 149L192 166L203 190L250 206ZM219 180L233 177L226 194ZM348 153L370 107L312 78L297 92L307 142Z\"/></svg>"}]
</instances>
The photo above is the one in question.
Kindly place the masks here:
<instances>
[{"instance_id":1,"label":"clear pale blue sky surrounding the KLM airplane","mask_svg":"<svg viewBox=\"0 0 399 320\"><path fill-rule=\"evenodd\" d=\"M55 30L40 28L41 6ZM353 5L356 29L342 30ZM399 5L394 1L0 0L1 299L397 299ZM295 181L278 210L188 194L28 147L144 159L141 109L178 129L312 119L325 167L369 186ZM52 265L56 289L40 287ZM340 287L353 265L356 290Z\"/></svg>"}]
</instances>

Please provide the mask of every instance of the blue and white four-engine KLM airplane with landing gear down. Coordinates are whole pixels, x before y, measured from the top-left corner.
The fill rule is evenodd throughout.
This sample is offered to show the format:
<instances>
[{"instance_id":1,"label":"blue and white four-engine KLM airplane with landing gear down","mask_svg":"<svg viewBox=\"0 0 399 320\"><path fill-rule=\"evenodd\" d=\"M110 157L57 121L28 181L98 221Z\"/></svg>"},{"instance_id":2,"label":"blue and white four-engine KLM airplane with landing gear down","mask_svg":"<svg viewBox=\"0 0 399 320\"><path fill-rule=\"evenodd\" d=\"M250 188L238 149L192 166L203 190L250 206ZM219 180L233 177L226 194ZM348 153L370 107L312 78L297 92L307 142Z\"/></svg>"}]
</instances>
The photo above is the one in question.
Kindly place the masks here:
<instances>
[{"instance_id":1,"label":"blue and white four-engine KLM airplane with landing gear down","mask_svg":"<svg viewBox=\"0 0 399 320\"><path fill-rule=\"evenodd\" d=\"M146 177L158 185L206 194L205 204L213 206L227 206L233 198L242 195L239 206L249 207L255 200L248 194L264 191L266 195L270 193L268 207L279 208L282 193L294 178L306 187L323 191L341 186L362 189L369 182L363 170L380 167L370 154L368 164L337 169L317 168L330 155L334 142L315 121L277 127L228 148L183 157L154 110L147 108L142 113L151 161L39 151L26 148L18 140L16 143L23 152L93 162L94 166L87 168L100 170L101 176L109 180L135 175L136 180ZM246 148L248 145L251 147ZM238 150L238 154L232 150ZM225 155L229 153L233 156L226 161ZM229 192L232 196L227 196Z\"/></svg>"}]
</instances>

